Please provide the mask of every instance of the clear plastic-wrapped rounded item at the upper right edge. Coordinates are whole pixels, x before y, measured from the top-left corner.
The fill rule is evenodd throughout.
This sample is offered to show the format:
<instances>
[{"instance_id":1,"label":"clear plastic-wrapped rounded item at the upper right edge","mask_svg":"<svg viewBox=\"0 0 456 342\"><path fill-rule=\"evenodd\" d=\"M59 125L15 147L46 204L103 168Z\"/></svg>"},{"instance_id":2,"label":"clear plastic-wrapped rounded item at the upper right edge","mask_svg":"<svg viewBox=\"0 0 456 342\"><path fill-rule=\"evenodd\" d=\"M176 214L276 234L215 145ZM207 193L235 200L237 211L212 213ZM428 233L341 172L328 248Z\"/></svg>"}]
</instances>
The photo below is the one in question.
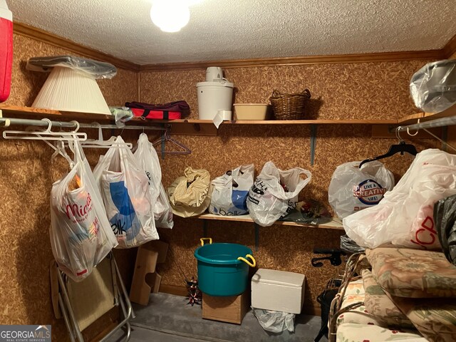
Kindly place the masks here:
<instances>
[{"instance_id":1,"label":"clear plastic-wrapped rounded item at the upper right edge","mask_svg":"<svg viewBox=\"0 0 456 342\"><path fill-rule=\"evenodd\" d=\"M456 103L456 60L427 63L410 80L415 105L439 113Z\"/></svg>"}]
</instances>

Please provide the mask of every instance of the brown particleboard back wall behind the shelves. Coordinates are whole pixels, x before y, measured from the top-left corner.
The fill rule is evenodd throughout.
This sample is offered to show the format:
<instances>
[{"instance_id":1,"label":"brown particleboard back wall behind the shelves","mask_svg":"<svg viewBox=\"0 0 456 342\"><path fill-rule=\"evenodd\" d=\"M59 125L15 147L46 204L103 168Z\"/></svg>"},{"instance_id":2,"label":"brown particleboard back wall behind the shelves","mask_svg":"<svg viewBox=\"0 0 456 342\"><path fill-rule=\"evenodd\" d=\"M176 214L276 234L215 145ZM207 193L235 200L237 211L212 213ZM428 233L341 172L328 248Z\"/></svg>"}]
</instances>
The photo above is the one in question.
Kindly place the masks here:
<instances>
[{"instance_id":1,"label":"brown particleboard back wall behind the shelves","mask_svg":"<svg viewBox=\"0 0 456 342\"><path fill-rule=\"evenodd\" d=\"M313 95L309 118L396 119L417 110L409 98L408 83L427 61L318 64L306 66L265 66L227 68L225 77L237 88L236 103L267 103L274 89L298 92L309 88ZM189 71L144 71L140 99L148 103L186 100L197 118L196 83L204 81L204 69ZM405 133L406 135L406 133ZM310 165L308 126L222 125L217 137L175 136L192 149L191 155L166 155L162 162L165 187L182 175L187 166L205 168L211 177L238 165L254 163L256 175L268 160L282 170L303 167L312 172L310 184L301 192L304 199L316 199L329 209L328 185L338 165L383 154L395 139L371 138L368 125L320 125L315 165ZM406 138L404 136L404 138ZM414 140L418 150L435 147L432 140ZM410 158L395 156L385 165L398 179L410 165ZM193 252L203 234L200 219L175 219L175 228L160 230L174 251L160 266L162 283L183 285L183 276L196 276ZM207 222L207 232L216 242L246 244L254 249L253 224ZM342 233L334 230L272 226L260 228L259 251L254 252L261 268L306 274L307 312L318 308L316 296L326 281L340 269L325 264L311 266L314 247L337 248Z\"/></svg>"}]
</instances>

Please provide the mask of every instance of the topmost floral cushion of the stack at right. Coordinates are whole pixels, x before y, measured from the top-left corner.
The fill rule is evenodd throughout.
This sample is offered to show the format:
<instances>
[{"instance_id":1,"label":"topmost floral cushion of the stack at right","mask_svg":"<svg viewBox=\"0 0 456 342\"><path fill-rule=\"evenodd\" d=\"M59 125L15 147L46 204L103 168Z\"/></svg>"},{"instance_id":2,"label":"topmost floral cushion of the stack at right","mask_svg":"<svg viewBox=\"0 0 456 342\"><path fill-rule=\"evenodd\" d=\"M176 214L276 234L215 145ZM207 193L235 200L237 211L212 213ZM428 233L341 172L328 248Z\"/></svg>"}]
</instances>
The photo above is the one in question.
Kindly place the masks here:
<instances>
[{"instance_id":1,"label":"topmost floral cushion of the stack at right","mask_svg":"<svg viewBox=\"0 0 456 342\"><path fill-rule=\"evenodd\" d=\"M456 266L441 252L380 247L366 256L375 281L394 296L456 297Z\"/></svg>"}]
</instances>

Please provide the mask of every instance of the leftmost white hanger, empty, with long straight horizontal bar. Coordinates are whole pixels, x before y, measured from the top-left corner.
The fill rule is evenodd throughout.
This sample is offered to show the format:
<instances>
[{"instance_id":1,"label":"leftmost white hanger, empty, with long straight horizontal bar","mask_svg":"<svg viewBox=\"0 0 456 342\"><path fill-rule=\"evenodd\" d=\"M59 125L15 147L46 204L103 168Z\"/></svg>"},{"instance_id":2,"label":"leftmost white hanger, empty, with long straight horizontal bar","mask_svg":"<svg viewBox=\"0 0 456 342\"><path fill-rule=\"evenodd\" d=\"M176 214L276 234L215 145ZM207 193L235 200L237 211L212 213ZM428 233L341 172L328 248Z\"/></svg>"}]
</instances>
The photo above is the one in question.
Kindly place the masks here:
<instances>
[{"instance_id":1,"label":"leftmost white hanger, empty, with long straight horizontal bar","mask_svg":"<svg viewBox=\"0 0 456 342\"><path fill-rule=\"evenodd\" d=\"M43 131L30 131L30 130L4 130L4 139L16 140L67 140L67 141L83 141L87 140L86 133L78 133L79 123L71 121L76 124L76 130L72 132L53 132L51 131L52 123L49 119L41 119L48 123L48 128Z\"/></svg>"}]
</instances>

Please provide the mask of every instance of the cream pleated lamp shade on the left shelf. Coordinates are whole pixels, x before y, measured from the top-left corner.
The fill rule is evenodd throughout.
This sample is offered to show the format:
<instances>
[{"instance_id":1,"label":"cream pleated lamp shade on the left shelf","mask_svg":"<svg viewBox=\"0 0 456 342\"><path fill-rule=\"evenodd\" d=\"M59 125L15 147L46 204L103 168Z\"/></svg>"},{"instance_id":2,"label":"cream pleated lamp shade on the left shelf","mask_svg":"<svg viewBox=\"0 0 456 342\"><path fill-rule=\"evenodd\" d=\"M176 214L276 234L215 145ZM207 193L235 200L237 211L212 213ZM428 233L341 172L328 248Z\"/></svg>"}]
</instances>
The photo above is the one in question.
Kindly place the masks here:
<instances>
[{"instance_id":1,"label":"cream pleated lamp shade on the left shelf","mask_svg":"<svg viewBox=\"0 0 456 342\"><path fill-rule=\"evenodd\" d=\"M110 115L97 81L61 66L53 68L32 107Z\"/></svg>"}]
</instances>

